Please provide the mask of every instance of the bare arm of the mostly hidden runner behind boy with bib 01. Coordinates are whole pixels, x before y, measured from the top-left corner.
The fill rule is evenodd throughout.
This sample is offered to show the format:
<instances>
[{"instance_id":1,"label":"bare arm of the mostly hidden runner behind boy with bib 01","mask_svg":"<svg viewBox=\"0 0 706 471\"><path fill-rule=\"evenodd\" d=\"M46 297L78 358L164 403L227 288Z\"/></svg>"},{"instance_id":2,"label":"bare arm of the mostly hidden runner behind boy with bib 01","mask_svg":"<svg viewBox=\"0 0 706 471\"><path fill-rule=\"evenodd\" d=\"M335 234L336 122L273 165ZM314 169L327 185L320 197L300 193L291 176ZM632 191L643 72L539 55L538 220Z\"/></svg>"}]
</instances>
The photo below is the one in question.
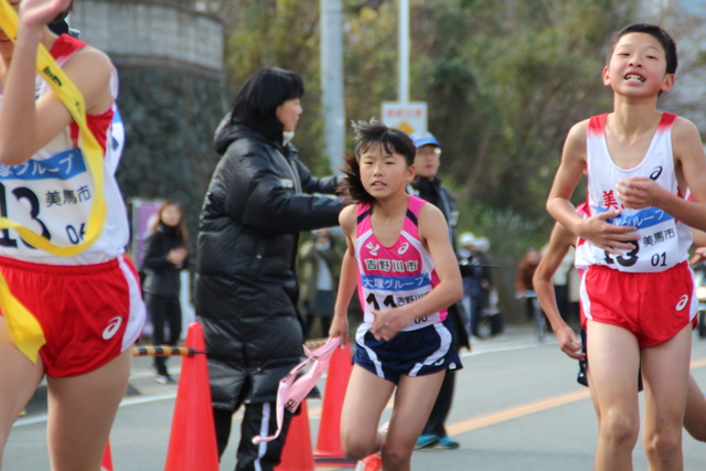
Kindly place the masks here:
<instances>
[{"instance_id":1,"label":"bare arm of the mostly hidden runner behind boy with bib 01","mask_svg":"<svg viewBox=\"0 0 706 471\"><path fill-rule=\"evenodd\" d=\"M586 354L579 353L581 342L559 314L559 308L556 303L556 295L554 292L554 285L552 283L552 277L559 268L564 256L566 256L566 253L575 240L576 235L559 223L556 223L552 229L552 235L549 236L549 246L542 256L539 266L534 272L533 282L534 290L537 293L542 309L545 314L547 314L547 319L549 319L549 323L552 324L552 330L559 341L559 349L561 349L561 352L566 353L571 358L585 360Z\"/></svg>"}]
</instances>

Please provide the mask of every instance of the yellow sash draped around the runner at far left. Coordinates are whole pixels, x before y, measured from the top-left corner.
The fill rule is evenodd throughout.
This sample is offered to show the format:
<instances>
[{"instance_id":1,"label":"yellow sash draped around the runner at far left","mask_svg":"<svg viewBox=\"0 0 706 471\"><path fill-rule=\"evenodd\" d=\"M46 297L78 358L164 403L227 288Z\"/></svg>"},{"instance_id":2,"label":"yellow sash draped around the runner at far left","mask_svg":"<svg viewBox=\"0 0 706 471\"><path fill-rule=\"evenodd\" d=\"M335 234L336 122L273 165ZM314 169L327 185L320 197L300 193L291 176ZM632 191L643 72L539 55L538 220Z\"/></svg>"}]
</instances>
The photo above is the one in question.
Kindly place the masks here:
<instances>
[{"instance_id":1,"label":"yellow sash draped around the runner at far left","mask_svg":"<svg viewBox=\"0 0 706 471\"><path fill-rule=\"evenodd\" d=\"M4 0L0 0L0 29L2 29L13 42L17 40L18 14ZM38 50L36 69L50 85L54 94L66 106L81 129L79 147L84 153L84 158L88 164L88 171L95 184L95 197L90 205L84 242L79 244L57 246L40 234L7 217L0 217L0 229L13 228L24 240L39 249L52 255L73 257L93 245L98 239L103 229L103 222L106 215L106 202L103 192L104 151L93 132L88 129L82 93L58 67L56 61L54 61L43 44L40 44ZM2 309L6 324L8 325L10 336L14 344L32 363L36 363L39 350L46 343L44 332L34 315L12 296L1 272L0 309Z\"/></svg>"}]
</instances>

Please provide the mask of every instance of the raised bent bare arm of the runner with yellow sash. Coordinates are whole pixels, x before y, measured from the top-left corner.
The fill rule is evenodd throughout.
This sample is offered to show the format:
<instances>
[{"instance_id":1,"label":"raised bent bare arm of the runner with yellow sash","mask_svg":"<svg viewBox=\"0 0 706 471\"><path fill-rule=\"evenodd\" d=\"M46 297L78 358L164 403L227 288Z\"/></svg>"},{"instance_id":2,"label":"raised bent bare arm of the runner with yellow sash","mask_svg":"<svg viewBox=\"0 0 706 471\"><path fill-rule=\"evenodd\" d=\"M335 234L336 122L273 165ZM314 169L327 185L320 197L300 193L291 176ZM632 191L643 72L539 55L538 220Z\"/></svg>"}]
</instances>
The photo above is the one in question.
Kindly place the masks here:
<instances>
[{"instance_id":1,"label":"raised bent bare arm of the runner with yellow sash","mask_svg":"<svg viewBox=\"0 0 706 471\"><path fill-rule=\"evenodd\" d=\"M34 97L38 46L51 40L46 23L68 3L68 0L24 0L20 7L18 41L3 78L0 163L17 165L28 161L73 121L53 92L39 100ZM105 54L85 47L72 57L64 72L84 95L87 113L103 113L110 107L111 65Z\"/></svg>"}]
</instances>

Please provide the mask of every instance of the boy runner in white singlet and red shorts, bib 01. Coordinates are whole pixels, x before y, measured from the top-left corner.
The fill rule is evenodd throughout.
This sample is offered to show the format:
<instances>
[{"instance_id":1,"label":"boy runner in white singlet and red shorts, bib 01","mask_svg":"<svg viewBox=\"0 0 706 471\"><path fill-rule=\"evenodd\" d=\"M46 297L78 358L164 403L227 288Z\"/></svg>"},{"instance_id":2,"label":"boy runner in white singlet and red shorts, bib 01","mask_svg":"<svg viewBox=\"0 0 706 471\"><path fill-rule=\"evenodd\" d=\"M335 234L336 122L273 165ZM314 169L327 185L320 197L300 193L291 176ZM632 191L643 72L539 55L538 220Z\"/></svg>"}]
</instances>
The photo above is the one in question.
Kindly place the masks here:
<instances>
[{"instance_id":1,"label":"boy runner in white singlet and red shorts, bib 01","mask_svg":"<svg viewBox=\"0 0 706 471\"><path fill-rule=\"evenodd\" d=\"M696 127L656 110L676 65L676 45L660 26L632 24L614 35L602 73L613 111L571 128L547 202L552 216L587 240L576 265L587 270L581 303L600 410L598 471L632 469L640 367L650 467L684 469L694 306L687 226L706 229L706 164ZM586 170L582 218L569 199ZM689 190L693 202L683 197Z\"/></svg>"}]
</instances>

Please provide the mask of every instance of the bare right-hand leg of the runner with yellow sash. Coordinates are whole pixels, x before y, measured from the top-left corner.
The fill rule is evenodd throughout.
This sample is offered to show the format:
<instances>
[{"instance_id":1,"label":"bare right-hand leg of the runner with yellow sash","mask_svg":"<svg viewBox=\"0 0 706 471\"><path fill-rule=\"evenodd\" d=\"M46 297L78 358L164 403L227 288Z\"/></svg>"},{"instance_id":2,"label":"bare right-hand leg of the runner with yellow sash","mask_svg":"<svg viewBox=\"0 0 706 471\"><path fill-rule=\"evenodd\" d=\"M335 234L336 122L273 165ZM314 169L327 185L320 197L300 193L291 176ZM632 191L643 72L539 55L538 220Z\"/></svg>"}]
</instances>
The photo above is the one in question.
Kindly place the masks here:
<instances>
[{"instance_id":1,"label":"bare right-hand leg of the runner with yellow sash","mask_svg":"<svg viewBox=\"0 0 706 471\"><path fill-rule=\"evenodd\" d=\"M96 471L125 395L131 349L81 376L49 378L49 451L53 471Z\"/></svg>"}]
</instances>

